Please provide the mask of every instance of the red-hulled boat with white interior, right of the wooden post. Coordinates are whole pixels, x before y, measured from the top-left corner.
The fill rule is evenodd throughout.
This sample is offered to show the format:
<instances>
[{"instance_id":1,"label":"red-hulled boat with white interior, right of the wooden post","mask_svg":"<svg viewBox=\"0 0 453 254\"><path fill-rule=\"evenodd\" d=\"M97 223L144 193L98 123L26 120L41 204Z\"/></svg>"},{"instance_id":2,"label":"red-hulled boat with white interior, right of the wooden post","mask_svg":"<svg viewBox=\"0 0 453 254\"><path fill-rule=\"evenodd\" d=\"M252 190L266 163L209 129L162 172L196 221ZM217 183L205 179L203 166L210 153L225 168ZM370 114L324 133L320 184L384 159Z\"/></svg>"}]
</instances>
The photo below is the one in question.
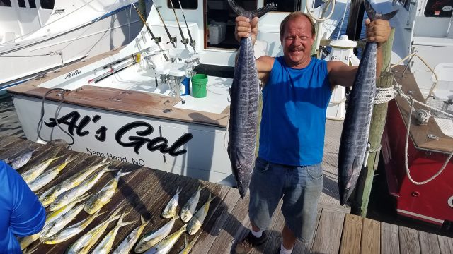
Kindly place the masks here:
<instances>
[{"instance_id":1,"label":"red-hulled boat with white interior, right of the wooden post","mask_svg":"<svg viewBox=\"0 0 453 254\"><path fill-rule=\"evenodd\" d=\"M401 65L392 73L406 95L428 104L414 102L415 111L400 96L389 102L382 137L389 192L398 214L451 230L453 3L377 0L374 6L382 13L398 10L390 20L396 29L391 61Z\"/></svg>"}]
</instances>

